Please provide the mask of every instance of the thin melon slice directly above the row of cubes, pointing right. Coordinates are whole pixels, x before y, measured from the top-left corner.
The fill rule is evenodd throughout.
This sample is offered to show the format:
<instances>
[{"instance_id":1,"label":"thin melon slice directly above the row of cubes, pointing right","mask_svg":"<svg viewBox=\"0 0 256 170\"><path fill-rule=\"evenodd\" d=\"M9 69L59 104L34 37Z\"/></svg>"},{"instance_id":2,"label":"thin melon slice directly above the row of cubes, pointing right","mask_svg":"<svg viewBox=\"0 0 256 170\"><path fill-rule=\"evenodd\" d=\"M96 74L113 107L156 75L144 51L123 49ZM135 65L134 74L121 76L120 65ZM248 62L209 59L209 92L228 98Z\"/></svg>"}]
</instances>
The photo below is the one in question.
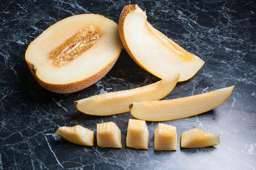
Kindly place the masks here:
<instances>
[{"instance_id":1,"label":"thin melon slice directly above the row of cubes, pointing right","mask_svg":"<svg viewBox=\"0 0 256 170\"><path fill-rule=\"evenodd\" d=\"M228 99L233 89L234 86L231 86L179 99L132 103L130 111L133 117L147 121L192 117L220 106Z\"/></svg>"}]
</instances>

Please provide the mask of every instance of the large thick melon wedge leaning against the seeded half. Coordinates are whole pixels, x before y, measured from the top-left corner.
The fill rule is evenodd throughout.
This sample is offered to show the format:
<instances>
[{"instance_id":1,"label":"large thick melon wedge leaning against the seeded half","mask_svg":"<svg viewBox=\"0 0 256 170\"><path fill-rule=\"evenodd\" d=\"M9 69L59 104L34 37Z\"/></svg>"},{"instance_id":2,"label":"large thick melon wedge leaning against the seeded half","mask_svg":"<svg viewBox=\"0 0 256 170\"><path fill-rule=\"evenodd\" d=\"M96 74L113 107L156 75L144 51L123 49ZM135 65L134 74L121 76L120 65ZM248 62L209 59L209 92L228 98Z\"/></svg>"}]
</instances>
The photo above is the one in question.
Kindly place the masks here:
<instances>
[{"instance_id":1,"label":"large thick melon wedge leaning against the seeded half","mask_svg":"<svg viewBox=\"0 0 256 170\"><path fill-rule=\"evenodd\" d=\"M179 81L185 81L204 65L202 59L154 29L137 4L124 7L118 28L120 39L132 59L159 78L180 73Z\"/></svg>"}]
</instances>

